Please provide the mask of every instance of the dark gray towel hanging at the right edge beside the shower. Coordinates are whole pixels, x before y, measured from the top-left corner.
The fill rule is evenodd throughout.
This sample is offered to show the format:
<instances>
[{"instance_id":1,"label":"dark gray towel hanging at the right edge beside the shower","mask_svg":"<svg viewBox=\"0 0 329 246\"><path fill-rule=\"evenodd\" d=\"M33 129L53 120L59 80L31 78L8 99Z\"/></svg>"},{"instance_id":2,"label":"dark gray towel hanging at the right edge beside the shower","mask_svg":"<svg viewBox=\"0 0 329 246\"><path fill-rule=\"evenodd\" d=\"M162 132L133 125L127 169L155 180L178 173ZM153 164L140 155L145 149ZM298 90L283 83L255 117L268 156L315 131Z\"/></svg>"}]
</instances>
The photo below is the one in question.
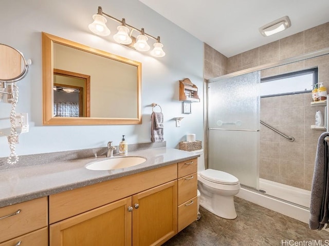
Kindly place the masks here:
<instances>
[{"instance_id":1,"label":"dark gray towel hanging at the right edge beside the shower","mask_svg":"<svg viewBox=\"0 0 329 246\"><path fill-rule=\"evenodd\" d=\"M308 222L312 230L321 230L329 222L328 145L324 141L326 136L329 136L329 132L320 135L315 157Z\"/></svg>"}]
</instances>

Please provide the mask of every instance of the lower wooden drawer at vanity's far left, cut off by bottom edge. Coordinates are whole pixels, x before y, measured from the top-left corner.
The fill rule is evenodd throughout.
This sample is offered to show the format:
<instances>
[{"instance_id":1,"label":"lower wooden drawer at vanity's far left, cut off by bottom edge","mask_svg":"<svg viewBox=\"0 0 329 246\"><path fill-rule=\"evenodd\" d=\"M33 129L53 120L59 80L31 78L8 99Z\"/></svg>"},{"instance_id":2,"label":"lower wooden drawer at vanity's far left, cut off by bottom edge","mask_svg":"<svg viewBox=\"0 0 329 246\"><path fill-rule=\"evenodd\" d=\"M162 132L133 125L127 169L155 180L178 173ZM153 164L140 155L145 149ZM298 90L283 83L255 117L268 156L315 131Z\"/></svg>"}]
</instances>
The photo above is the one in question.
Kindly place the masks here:
<instances>
[{"instance_id":1,"label":"lower wooden drawer at vanity's far left, cut off by bottom edge","mask_svg":"<svg viewBox=\"0 0 329 246\"><path fill-rule=\"evenodd\" d=\"M47 246L48 227L0 243L0 246L14 246L14 245Z\"/></svg>"}]
</instances>

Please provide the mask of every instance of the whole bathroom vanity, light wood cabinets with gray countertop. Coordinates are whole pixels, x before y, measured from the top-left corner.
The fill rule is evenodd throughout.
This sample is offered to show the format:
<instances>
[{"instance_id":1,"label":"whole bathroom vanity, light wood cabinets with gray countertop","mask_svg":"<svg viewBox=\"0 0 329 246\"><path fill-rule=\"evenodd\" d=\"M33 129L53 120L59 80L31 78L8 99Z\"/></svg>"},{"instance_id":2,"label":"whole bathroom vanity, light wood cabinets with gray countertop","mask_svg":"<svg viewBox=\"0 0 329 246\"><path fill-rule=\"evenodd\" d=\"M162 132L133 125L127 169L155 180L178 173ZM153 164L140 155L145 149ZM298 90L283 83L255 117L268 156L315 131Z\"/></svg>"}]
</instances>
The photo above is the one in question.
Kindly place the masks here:
<instances>
[{"instance_id":1,"label":"whole bathroom vanity, light wood cabinets with gray countertop","mask_svg":"<svg viewBox=\"0 0 329 246\"><path fill-rule=\"evenodd\" d=\"M8 203L17 202L17 196L0 199L0 246L19 245L20 241L35 246L95 242L160 245L196 220L198 155L169 148L129 155L143 156L147 161L131 168L107 171L87 170L85 166L91 159L39 167L45 169L35 174L39 176L35 181L38 183L39 179L39 191L26 193L20 198L26 201L12 205ZM35 168L38 167L25 171ZM23 170L16 171L23 174ZM9 177L10 172L5 171L4 176ZM9 186L16 191L23 189L17 186L24 185L28 176L19 177L22 182ZM49 184L48 188L40 187L41 176L53 183L53 187ZM80 182L69 181L68 177ZM1 178L0 185L3 181ZM11 216L1 218L8 215Z\"/></svg>"}]
</instances>

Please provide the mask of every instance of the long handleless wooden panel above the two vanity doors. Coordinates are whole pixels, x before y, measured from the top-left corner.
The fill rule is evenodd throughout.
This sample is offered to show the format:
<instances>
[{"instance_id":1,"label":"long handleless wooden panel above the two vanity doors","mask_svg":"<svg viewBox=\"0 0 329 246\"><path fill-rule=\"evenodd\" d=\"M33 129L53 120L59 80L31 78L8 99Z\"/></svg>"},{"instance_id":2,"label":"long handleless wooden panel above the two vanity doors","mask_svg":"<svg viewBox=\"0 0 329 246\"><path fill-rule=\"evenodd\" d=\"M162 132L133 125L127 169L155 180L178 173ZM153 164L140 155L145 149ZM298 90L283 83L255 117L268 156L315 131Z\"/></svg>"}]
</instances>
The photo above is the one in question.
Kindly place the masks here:
<instances>
[{"instance_id":1,"label":"long handleless wooden panel above the two vanity doors","mask_svg":"<svg viewBox=\"0 0 329 246\"><path fill-rule=\"evenodd\" d=\"M49 223L101 207L177 178L177 164L49 196Z\"/></svg>"}]
</instances>

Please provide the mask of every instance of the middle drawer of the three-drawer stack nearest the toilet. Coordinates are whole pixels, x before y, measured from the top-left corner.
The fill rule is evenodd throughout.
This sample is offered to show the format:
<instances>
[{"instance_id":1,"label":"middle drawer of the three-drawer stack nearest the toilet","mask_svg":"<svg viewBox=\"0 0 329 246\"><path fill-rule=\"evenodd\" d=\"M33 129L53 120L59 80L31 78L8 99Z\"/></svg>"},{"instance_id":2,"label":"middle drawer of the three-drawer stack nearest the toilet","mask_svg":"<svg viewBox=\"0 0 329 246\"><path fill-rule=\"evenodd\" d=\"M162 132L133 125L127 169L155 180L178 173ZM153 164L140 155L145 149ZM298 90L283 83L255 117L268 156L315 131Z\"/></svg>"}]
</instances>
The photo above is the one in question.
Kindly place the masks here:
<instances>
[{"instance_id":1,"label":"middle drawer of the three-drawer stack nearest the toilet","mask_svg":"<svg viewBox=\"0 0 329 246\"><path fill-rule=\"evenodd\" d=\"M197 173L178 179L178 205L197 195Z\"/></svg>"}]
</instances>

